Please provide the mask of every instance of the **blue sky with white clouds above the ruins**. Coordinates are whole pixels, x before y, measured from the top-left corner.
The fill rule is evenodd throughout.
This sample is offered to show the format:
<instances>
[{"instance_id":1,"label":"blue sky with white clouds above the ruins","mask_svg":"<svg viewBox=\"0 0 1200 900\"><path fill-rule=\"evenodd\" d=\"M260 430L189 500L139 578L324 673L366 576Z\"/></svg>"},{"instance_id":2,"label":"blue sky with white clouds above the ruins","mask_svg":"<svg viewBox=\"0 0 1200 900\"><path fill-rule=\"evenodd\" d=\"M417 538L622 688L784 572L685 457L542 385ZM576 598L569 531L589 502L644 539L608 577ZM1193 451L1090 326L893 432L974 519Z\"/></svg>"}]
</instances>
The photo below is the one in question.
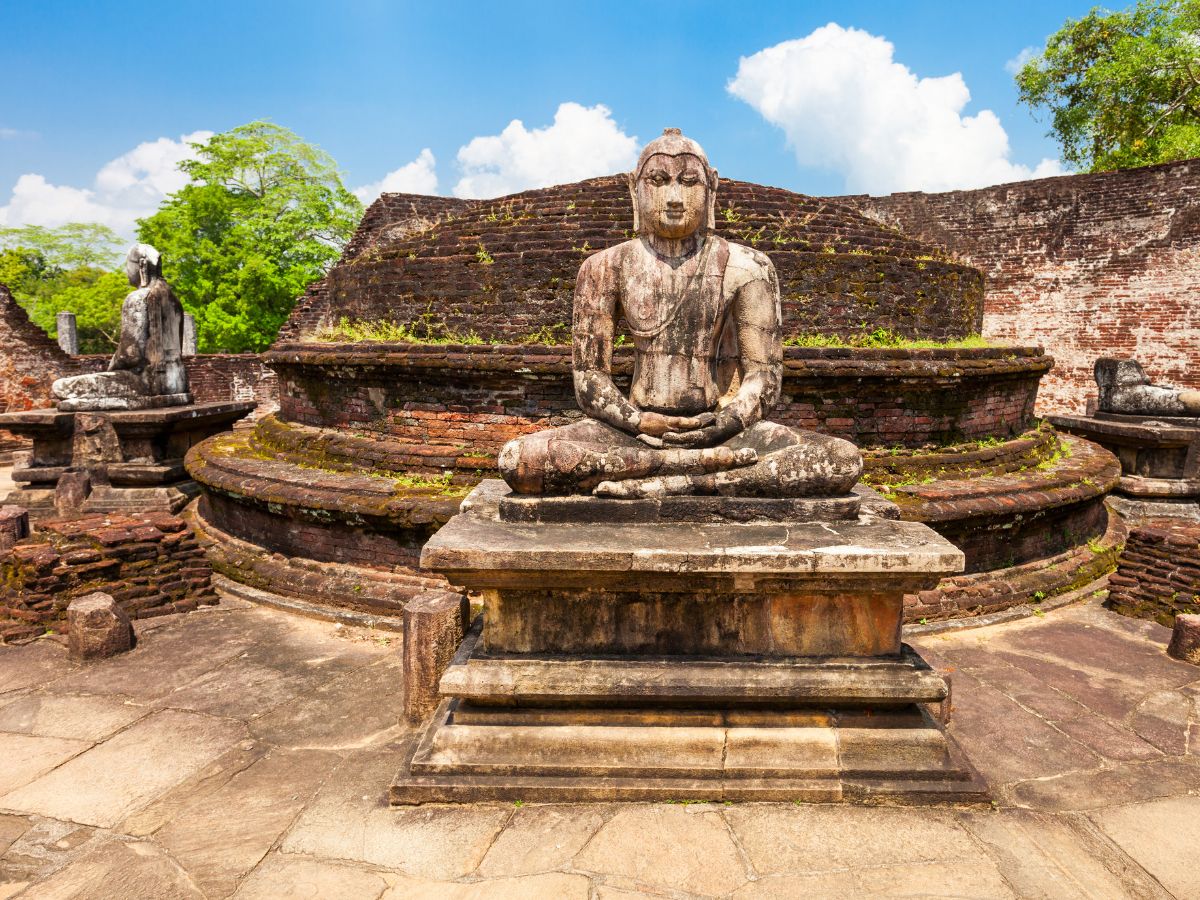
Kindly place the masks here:
<instances>
[{"instance_id":1,"label":"blue sky with white clouds above the ruins","mask_svg":"<svg viewBox=\"0 0 1200 900\"><path fill-rule=\"evenodd\" d=\"M428 187L436 176L438 193L494 193L564 180L623 163L635 137L644 143L666 125L697 138L722 175L805 193L1050 174L1057 149L1016 106L1006 64L1090 7L0 0L0 221L5 209L10 224L49 216L55 203L58 215L144 206L172 186L152 172L173 166L169 142L257 118L323 146L367 198L409 164L392 186ZM742 58L754 62L739 72ZM947 79L955 73L961 82ZM563 103L583 112L539 133ZM474 163L460 160L515 119L523 131L476 143ZM126 156L143 144L154 152ZM898 162L896 146L910 156ZM564 156L575 169L556 162ZM37 190L20 205L23 175L40 180L24 182Z\"/></svg>"}]
</instances>

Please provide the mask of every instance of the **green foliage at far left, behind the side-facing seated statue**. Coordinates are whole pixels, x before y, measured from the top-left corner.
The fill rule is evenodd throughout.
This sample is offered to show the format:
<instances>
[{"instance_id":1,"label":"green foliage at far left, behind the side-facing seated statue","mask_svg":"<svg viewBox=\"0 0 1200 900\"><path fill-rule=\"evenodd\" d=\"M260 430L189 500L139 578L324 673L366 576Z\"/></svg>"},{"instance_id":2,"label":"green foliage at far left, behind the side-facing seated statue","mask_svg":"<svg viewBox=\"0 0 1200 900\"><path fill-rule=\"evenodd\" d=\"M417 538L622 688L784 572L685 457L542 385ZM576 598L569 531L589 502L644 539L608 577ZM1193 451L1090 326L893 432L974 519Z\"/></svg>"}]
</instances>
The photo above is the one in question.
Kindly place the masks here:
<instances>
[{"instance_id":1,"label":"green foliage at far left, behind the side-facing seated statue","mask_svg":"<svg viewBox=\"0 0 1200 900\"><path fill-rule=\"evenodd\" d=\"M0 229L0 283L52 337L58 313L73 312L80 353L110 353L121 300L132 290L121 270L109 271L124 244L102 224Z\"/></svg>"}]
</instances>

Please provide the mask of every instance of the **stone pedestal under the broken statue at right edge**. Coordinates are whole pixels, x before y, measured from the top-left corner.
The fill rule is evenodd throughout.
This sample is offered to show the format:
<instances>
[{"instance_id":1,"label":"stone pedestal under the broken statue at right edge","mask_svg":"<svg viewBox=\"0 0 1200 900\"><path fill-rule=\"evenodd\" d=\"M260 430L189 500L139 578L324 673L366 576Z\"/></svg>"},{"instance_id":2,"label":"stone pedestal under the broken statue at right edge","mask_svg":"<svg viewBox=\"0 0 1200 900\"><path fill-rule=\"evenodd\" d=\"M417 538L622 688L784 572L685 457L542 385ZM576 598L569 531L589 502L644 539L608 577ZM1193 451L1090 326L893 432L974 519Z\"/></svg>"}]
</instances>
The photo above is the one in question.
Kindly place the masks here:
<instances>
[{"instance_id":1,"label":"stone pedestal under the broken statue at right edge","mask_svg":"<svg viewBox=\"0 0 1200 900\"><path fill-rule=\"evenodd\" d=\"M1112 504L1122 515L1200 520L1200 419L1102 412L1049 419L1121 460Z\"/></svg>"}]
</instances>

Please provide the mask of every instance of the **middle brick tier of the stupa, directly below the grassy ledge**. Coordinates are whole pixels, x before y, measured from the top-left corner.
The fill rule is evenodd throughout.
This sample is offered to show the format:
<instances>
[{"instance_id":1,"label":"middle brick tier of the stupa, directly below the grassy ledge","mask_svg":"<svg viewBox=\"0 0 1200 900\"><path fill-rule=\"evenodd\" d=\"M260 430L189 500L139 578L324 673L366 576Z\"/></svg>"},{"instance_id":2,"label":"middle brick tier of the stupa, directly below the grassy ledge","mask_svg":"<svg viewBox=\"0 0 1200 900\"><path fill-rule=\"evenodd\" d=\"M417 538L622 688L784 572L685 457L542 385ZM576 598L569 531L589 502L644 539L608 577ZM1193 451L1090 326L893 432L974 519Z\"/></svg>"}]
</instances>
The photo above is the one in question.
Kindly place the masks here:
<instances>
[{"instance_id":1,"label":"middle brick tier of the stupa, directly below the grassy ledge","mask_svg":"<svg viewBox=\"0 0 1200 900\"><path fill-rule=\"evenodd\" d=\"M617 354L618 376L630 360ZM580 415L563 347L287 343L266 361L278 373L282 419L420 444L427 458L407 466L416 470L492 455L511 437ZM1051 365L1030 347L792 347L772 419L863 446L1007 438L1032 425Z\"/></svg>"}]
</instances>

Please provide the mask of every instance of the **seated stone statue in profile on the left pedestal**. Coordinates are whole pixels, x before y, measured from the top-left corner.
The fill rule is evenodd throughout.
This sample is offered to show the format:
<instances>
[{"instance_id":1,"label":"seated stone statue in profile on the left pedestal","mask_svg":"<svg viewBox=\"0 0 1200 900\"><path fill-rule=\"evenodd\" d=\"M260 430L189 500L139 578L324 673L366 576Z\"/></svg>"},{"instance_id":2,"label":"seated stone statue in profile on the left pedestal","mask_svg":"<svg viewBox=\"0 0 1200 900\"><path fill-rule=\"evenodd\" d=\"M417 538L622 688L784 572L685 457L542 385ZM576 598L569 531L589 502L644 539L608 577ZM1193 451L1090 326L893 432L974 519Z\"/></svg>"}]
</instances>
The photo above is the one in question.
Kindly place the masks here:
<instances>
[{"instance_id":1,"label":"seated stone statue in profile on the left pedestal","mask_svg":"<svg viewBox=\"0 0 1200 900\"><path fill-rule=\"evenodd\" d=\"M59 409L146 409L192 402L184 368L184 307L162 277L158 251L134 244L125 274L136 290L121 305L121 335L108 370L59 378Z\"/></svg>"}]
</instances>

